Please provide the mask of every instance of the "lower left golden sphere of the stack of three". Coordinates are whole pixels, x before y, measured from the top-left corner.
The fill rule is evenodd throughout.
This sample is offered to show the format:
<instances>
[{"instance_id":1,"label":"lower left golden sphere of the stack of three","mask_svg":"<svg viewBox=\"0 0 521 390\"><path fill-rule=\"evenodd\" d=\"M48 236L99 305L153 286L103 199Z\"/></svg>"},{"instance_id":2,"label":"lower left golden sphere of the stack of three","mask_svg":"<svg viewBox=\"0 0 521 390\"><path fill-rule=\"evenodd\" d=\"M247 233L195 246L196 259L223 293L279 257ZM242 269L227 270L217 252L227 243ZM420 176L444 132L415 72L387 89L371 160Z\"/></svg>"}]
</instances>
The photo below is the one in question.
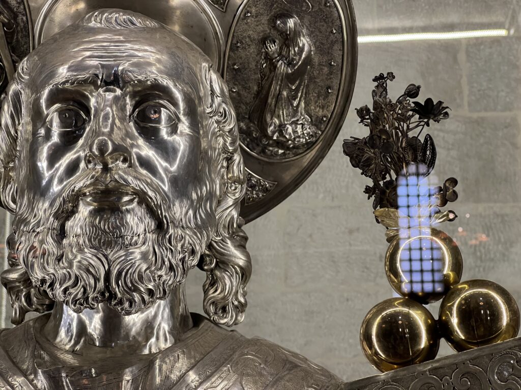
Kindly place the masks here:
<instances>
[{"instance_id":1,"label":"lower left golden sphere of the stack of three","mask_svg":"<svg viewBox=\"0 0 521 390\"><path fill-rule=\"evenodd\" d=\"M386 372L434 359L440 340L429 310L406 298L391 298L373 307L362 323L365 357Z\"/></svg>"}]
</instances>

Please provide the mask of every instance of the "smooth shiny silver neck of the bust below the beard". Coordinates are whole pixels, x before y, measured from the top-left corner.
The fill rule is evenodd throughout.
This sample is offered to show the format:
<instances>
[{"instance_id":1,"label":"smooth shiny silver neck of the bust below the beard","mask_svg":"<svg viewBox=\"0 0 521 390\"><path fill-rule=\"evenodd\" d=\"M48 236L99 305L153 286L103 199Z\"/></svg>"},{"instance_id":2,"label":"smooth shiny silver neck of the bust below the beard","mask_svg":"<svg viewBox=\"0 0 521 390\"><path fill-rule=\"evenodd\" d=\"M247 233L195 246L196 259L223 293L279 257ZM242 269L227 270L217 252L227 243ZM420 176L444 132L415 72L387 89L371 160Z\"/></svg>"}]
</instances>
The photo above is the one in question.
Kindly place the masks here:
<instances>
[{"instance_id":1,"label":"smooth shiny silver neck of the bust below the beard","mask_svg":"<svg viewBox=\"0 0 521 390\"><path fill-rule=\"evenodd\" d=\"M77 314L56 303L43 333L61 350L109 357L157 353L177 343L192 326L181 284L166 301L132 316L121 316L107 304Z\"/></svg>"}]
</instances>

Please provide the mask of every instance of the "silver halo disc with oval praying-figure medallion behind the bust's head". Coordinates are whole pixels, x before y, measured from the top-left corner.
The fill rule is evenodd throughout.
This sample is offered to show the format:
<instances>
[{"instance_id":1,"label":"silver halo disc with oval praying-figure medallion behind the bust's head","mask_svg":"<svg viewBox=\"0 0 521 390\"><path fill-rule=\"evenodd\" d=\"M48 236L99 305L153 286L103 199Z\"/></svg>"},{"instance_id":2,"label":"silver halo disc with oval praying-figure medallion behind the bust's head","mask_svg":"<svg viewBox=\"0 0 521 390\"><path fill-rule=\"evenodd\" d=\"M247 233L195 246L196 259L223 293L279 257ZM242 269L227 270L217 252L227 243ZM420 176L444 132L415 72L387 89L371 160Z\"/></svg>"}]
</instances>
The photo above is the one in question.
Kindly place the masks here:
<instances>
[{"instance_id":1,"label":"silver halo disc with oval praying-figure medallion behind the bust's head","mask_svg":"<svg viewBox=\"0 0 521 390\"><path fill-rule=\"evenodd\" d=\"M168 25L210 57L232 92L246 167L277 183L264 194L246 189L246 223L311 175L349 108L357 61L350 0L27 1L35 45L88 12L114 7ZM276 45L274 58L266 40Z\"/></svg>"}]
</instances>

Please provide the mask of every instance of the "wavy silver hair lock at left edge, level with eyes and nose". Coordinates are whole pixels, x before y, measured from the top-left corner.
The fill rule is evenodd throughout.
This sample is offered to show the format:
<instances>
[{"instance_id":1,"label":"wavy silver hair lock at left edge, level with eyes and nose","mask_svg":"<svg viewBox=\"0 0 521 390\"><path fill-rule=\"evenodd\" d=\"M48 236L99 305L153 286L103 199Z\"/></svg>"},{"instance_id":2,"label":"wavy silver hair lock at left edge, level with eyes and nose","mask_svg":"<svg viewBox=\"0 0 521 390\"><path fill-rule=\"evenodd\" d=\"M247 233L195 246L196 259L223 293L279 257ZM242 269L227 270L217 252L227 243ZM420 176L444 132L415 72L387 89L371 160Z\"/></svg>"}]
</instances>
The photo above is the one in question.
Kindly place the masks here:
<instances>
[{"instance_id":1,"label":"wavy silver hair lock at left edge, level with eyes and nose","mask_svg":"<svg viewBox=\"0 0 521 390\"><path fill-rule=\"evenodd\" d=\"M22 117L22 92L15 78L7 87L0 111L0 205L16 210L15 160Z\"/></svg>"}]
</instances>

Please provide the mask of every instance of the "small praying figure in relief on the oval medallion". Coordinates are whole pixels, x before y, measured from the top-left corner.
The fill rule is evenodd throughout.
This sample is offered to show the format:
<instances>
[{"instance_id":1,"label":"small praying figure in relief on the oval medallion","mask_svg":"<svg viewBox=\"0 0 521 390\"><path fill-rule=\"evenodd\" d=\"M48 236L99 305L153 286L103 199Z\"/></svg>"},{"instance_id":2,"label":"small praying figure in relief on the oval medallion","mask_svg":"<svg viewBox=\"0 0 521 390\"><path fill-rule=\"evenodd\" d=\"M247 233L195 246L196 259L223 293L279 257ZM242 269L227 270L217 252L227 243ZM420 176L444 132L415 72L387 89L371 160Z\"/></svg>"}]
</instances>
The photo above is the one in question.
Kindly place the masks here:
<instances>
[{"instance_id":1,"label":"small praying figure in relief on the oval medallion","mask_svg":"<svg viewBox=\"0 0 521 390\"><path fill-rule=\"evenodd\" d=\"M259 90L250 123L241 123L242 140L262 155L293 157L320 136L306 112L313 48L296 16L279 14L274 25L277 35L263 42Z\"/></svg>"}]
</instances>

